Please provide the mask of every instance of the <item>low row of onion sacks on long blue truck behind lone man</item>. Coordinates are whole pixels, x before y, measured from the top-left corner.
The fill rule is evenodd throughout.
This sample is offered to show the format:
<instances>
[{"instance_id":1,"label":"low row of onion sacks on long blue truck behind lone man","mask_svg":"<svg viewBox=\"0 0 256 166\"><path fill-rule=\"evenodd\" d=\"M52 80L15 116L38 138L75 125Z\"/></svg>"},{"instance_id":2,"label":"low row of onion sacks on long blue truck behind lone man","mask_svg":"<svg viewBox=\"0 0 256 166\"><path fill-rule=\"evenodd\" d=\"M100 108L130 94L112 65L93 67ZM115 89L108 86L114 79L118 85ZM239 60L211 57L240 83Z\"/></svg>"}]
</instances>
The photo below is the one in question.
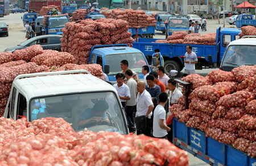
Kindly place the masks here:
<instances>
[{"instance_id":1,"label":"low row of onion sacks on long blue truck behind lone man","mask_svg":"<svg viewBox=\"0 0 256 166\"><path fill-rule=\"evenodd\" d=\"M173 43L173 44L197 44L197 45L216 45L216 33L200 33L188 34L186 31L173 32L167 40L156 40L158 43Z\"/></svg>"}]
</instances>

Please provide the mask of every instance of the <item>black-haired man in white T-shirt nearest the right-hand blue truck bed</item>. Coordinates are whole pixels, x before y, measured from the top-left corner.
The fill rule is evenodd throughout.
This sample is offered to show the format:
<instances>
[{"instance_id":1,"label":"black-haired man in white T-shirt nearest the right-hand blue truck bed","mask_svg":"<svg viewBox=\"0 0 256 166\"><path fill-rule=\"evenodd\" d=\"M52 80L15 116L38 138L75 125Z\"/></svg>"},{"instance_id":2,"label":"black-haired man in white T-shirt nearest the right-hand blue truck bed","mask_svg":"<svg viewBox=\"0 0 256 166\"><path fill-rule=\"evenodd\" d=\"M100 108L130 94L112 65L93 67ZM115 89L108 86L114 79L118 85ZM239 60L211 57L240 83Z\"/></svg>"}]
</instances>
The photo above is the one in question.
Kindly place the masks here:
<instances>
[{"instance_id":1,"label":"black-haired man in white T-shirt nearest the right-hand blue truck bed","mask_svg":"<svg viewBox=\"0 0 256 166\"><path fill-rule=\"evenodd\" d=\"M164 109L164 105L166 105L167 102L167 93L160 93L159 105L155 108L153 120L153 136L156 138L167 139L167 131L171 131L171 128L166 125L166 110Z\"/></svg>"}]
</instances>

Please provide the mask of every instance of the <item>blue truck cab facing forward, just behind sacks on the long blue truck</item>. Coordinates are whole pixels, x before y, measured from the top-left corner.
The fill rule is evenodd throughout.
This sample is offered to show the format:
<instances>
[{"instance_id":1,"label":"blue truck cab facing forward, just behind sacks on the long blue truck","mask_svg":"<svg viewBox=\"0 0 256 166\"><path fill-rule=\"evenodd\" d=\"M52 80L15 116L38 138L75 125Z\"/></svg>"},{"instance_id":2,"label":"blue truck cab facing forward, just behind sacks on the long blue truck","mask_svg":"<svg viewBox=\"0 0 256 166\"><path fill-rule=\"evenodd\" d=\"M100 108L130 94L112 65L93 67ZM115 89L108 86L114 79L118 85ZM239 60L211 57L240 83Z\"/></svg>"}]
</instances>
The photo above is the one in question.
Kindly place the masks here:
<instances>
[{"instance_id":1,"label":"blue truck cab facing forward, just behind sacks on the long blue truck","mask_svg":"<svg viewBox=\"0 0 256 166\"><path fill-rule=\"evenodd\" d=\"M171 15L168 17L166 26L166 39L172 32L189 30L189 22L186 16Z\"/></svg>"}]
</instances>

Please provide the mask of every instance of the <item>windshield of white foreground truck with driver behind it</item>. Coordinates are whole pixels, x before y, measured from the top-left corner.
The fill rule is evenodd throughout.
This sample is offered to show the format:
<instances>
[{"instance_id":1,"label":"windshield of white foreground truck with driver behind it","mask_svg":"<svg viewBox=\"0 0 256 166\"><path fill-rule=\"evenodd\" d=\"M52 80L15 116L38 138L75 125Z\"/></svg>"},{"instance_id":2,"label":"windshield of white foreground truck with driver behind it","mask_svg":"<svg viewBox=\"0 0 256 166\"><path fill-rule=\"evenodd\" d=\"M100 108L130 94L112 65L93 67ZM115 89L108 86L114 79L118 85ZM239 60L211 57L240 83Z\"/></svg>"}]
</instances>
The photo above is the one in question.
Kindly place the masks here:
<instances>
[{"instance_id":1,"label":"windshield of white foreground truck with driver behind it","mask_svg":"<svg viewBox=\"0 0 256 166\"><path fill-rule=\"evenodd\" d=\"M46 117L63 118L75 131L85 128L127 134L125 115L113 92L89 92L37 97L30 101L30 121Z\"/></svg>"}]
</instances>

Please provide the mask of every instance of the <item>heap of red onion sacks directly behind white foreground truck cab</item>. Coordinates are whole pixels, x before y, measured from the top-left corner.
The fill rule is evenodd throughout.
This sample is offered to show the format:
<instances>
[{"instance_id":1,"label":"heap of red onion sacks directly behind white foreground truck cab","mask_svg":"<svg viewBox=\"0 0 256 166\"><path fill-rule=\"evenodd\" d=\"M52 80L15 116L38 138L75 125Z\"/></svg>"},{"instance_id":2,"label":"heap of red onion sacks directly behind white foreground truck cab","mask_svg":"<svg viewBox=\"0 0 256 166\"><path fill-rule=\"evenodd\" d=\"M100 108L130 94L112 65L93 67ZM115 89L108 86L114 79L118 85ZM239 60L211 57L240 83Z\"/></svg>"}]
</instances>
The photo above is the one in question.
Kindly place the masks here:
<instances>
[{"instance_id":1,"label":"heap of red onion sacks directly behind white foreground truck cab","mask_svg":"<svg viewBox=\"0 0 256 166\"><path fill-rule=\"evenodd\" d=\"M76 65L75 62L72 54L43 50L40 45L15 50L14 53L0 53L0 116L5 112L12 82L20 74L85 69L100 79L104 78L100 65Z\"/></svg>"}]
</instances>

